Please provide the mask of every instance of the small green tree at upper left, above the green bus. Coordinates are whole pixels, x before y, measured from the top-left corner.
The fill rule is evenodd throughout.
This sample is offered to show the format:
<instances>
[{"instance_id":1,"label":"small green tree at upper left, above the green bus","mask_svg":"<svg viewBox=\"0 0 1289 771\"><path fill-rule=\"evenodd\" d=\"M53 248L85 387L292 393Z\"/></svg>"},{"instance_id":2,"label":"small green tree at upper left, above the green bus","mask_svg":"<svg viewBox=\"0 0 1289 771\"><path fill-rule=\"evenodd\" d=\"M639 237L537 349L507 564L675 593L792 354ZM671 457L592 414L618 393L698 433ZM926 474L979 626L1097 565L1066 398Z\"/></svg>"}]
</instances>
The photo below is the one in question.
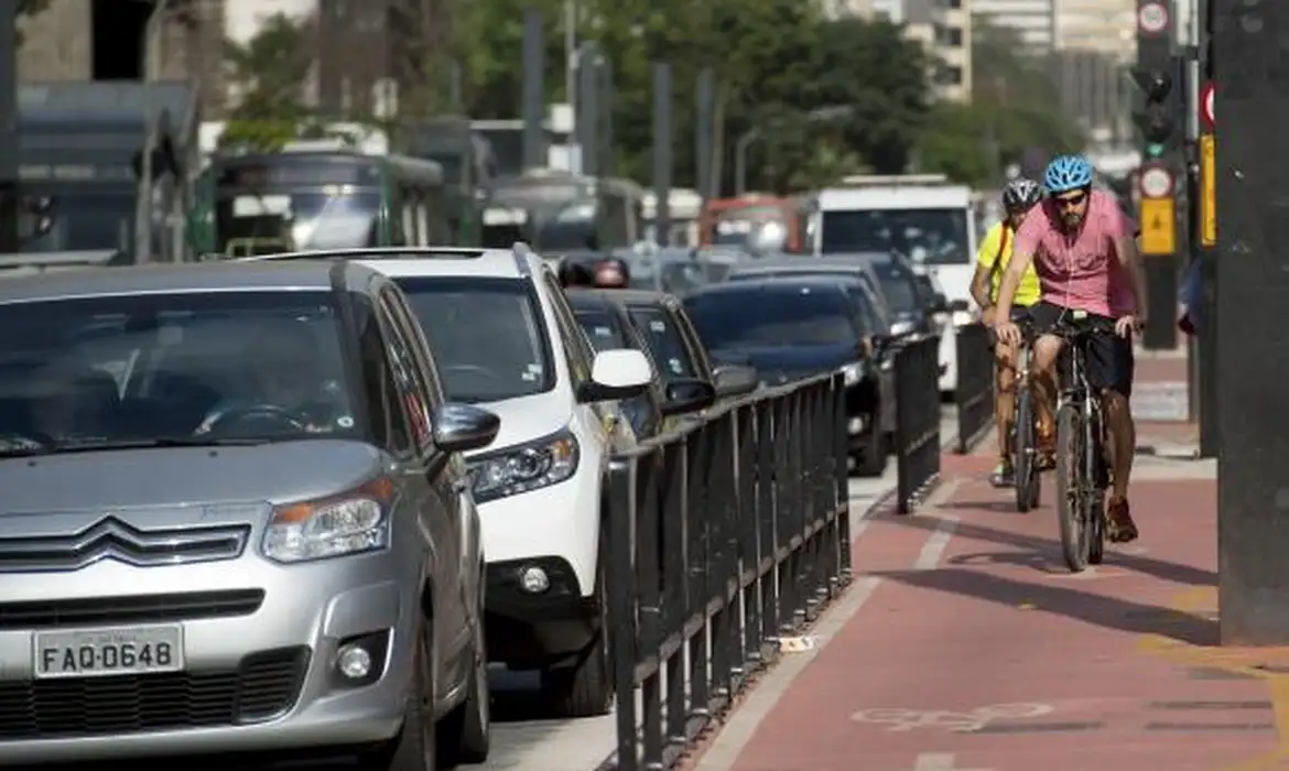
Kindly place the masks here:
<instances>
[{"instance_id":1,"label":"small green tree at upper left, above the green bus","mask_svg":"<svg viewBox=\"0 0 1289 771\"><path fill-rule=\"evenodd\" d=\"M304 104L304 84L313 68L312 24L284 13L264 21L245 44L224 41L237 106L219 138L222 148L275 152L315 120Z\"/></svg>"}]
</instances>

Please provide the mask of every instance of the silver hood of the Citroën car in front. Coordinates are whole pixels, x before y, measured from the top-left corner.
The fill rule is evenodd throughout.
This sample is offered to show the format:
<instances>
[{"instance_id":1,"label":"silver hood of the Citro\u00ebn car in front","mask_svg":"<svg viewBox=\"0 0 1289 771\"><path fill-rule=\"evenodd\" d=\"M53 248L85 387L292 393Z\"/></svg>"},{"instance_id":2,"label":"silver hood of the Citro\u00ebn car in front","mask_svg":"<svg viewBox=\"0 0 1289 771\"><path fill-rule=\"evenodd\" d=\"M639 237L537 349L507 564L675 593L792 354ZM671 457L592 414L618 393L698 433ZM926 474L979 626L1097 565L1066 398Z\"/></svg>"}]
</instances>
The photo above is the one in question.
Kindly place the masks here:
<instances>
[{"instance_id":1,"label":"silver hood of the Citro\u00ebn car in front","mask_svg":"<svg viewBox=\"0 0 1289 771\"><path fill-rule=\"evenodd\" d=\"M218 523L231 511L247 521L269 504L352 489L385 463L371 445L347 440L10 458L0 460L0 527L8 517L40 512L53 520L93 514L85 525L112 513L135 527L180 525L177 509L192 512L191 525ZM210 504L233 505L215 516Z\"/></svg>"}]
</instances>

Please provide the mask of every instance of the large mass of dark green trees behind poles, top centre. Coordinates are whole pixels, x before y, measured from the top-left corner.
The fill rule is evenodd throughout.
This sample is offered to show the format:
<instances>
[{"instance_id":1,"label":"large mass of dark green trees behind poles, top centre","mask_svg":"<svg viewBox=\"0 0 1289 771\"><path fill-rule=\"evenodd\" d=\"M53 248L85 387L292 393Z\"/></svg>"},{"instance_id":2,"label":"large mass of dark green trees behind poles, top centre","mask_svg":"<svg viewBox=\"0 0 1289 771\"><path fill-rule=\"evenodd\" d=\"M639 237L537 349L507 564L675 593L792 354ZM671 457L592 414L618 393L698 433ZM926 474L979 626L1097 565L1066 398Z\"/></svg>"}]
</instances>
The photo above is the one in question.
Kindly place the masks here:
<instances>
[{"instance_id":1,"label":"large mass of dark green trees behind poles, top centre","mask_svg":"<svg viewBox=\"0 0 1289 771\"><path fill-rule=\"evenodd\" d=\"M470 0L458 5L456 55L465 112L519 115L523 8L545 22L548 101L566 95L562 0ZM715 73L717 166L732 188L739 137L751 188L786 191L861 169L898 171L927 117L927 59L884 22L825 21L802 0L579 0L579 43L611 61L614 169L641 182L652 165L654 63L673 72L673 183L695 183L695 84ZM824 110L821 110L824 108ZM811 115L815 117L808 117Z\"/></svg>"}]
</instances>

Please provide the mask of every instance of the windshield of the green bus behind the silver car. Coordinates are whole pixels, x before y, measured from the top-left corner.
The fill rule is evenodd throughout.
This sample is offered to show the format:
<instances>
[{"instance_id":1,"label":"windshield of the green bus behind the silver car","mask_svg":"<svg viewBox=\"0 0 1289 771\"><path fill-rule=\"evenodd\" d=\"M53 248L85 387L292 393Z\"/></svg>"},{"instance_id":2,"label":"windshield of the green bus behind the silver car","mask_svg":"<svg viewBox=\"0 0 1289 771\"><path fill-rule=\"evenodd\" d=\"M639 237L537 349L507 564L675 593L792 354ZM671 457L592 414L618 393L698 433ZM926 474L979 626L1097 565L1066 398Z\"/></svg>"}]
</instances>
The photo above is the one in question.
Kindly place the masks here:
<instances>
[{"instance_id":1,"label":"windshield of the green bus behind the silver car","mask_svg":"<svg viewBox=\"0 0 1289 771\"><path fill-rule=\"evenodd\" d=\"M215 204L217 250L233 255L376 245L380 195L325 190L224 190Z\"/></svg>"}]
</instances>

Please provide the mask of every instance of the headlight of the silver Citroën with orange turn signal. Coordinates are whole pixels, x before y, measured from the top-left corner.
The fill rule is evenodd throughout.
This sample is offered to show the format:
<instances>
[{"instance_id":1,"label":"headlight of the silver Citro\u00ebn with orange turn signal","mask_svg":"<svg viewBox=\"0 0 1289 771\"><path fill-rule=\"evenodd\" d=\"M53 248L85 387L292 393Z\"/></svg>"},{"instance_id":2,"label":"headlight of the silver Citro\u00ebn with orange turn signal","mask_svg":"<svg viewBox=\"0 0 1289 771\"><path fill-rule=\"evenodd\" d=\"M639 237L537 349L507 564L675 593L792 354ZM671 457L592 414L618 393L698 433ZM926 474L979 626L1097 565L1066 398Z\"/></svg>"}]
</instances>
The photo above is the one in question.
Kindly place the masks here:
<instances>
[{"instance_id":1,"label":"headlight of the silver Citro\u00ebn with orange turn signal","mask_svg":"<svg viewBox=\"0 0 1289 771\"><path fill-rule=\"evenodd\" d=\"M351 493L273 508L262 549L275 562L308 562L383 549L389 543L393 482L375 480Z\"/></svg>"}]
</instances>

